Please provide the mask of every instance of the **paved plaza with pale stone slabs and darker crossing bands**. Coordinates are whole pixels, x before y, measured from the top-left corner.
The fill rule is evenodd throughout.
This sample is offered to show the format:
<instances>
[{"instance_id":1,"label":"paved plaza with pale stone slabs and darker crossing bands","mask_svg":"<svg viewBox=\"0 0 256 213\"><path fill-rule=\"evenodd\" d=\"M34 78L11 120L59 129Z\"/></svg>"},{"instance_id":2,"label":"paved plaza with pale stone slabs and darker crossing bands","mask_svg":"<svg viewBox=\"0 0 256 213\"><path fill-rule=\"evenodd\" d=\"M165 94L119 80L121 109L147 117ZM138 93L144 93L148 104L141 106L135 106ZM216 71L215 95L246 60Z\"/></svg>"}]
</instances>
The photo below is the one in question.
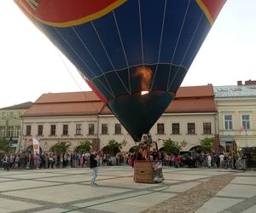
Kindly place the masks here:
<instances>
[{"instance_id":1,"label":"paved plaza with pale stone slabs and darker crossing bands","mask_svg":"<svg viewBox=\"0 0 256 213\"><path fill-rule=\"evenodd\" d=\"M165 181L133 181L130 166L0 170L0 212L256 212L256 172L164 167Z\"/></svg>"}]
</instances>

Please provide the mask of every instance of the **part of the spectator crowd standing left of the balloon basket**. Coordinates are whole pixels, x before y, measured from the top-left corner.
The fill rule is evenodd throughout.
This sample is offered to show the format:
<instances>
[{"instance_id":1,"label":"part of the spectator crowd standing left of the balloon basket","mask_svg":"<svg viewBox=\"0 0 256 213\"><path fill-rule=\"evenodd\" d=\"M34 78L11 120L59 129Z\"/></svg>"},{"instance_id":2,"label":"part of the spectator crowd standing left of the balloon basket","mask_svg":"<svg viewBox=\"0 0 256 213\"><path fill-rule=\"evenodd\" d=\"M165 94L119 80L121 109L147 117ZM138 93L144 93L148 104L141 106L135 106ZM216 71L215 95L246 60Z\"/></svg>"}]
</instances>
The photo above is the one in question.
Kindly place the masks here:
<instances>
[{"instance_id":1,"label":"part of the spectator crowd standing left of the balloon basket","mask_svg":"<svg viewBox=\"0 0 256 213\"><path fill-rule=\"evenodd\" d=\"M114 158L109 154L97 152L98 166L131 164L132 153L117 153ZM61 169L90 167L90 153L42 153L2 154L0 167L10 169Z\"/></svg>"}]
</instances>

